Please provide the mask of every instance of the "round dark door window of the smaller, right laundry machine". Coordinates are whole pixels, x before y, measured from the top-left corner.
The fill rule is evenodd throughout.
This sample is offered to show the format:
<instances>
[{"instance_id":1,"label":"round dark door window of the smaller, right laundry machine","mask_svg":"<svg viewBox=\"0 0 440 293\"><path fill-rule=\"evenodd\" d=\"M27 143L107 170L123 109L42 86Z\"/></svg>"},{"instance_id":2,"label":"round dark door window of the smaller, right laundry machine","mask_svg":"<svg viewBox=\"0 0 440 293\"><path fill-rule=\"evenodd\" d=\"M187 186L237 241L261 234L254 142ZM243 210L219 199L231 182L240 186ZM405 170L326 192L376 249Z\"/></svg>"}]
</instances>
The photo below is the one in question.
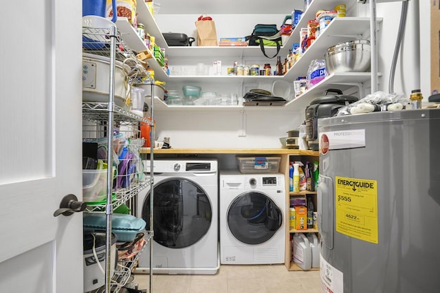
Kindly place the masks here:
<instances>
[{"instance_id":1,"label":"round dark door window of the smaller, right laundry machine","mask_svg":"<svg viewBox=\"0 0 440 293\"><path fill-rule=\"evenodd\" d=\"M228 227L232 235L246 244L264 243L282 224L283 213L264 193L243 193L228 209Z\"/></svg>"}]
</instances>

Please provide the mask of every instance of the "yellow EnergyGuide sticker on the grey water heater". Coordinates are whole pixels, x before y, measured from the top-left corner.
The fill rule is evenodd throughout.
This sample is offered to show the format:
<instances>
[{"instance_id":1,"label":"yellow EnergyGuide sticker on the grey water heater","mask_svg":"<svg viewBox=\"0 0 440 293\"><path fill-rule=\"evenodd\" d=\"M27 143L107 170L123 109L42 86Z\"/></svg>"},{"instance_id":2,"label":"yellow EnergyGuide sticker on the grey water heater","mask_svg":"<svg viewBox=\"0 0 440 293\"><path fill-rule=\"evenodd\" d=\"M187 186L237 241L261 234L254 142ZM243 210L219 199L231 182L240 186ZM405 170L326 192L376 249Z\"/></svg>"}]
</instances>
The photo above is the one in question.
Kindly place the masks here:
<instances>
[{"instance_id":1,"label":"yellow EnergyGuide sticker on the grey water heater","mask_svg":"<svg viewBox=\"0 0 440 293\"><path fill-rule=\"evenodd\" d=\"M378 243L377 181L336 177L336 231Z\"/></svg>"}]
</instances>

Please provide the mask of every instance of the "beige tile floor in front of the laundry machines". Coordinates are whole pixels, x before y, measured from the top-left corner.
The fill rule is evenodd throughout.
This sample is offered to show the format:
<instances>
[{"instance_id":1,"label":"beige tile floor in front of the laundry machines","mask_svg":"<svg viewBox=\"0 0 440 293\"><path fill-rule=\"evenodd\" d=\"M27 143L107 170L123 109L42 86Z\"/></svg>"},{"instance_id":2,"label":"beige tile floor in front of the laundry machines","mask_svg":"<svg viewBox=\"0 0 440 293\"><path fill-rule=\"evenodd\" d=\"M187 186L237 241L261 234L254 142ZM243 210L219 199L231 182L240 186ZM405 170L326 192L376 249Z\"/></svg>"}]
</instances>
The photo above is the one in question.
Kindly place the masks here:
<instances>
[{"instance_id":1,"label":"beige tile floor in front of the laundry machines","mask_svg":"<svg viewBox=\"0 0 440 293\"><path fill-rule=\"evenodd\" d=\"M135 274L149 290L148 274ZM287 271L285 265L221 265L214 275L153 275L152 293L319 293L319 271ZM148 292L150 293L150 292Z\"/></svg>"}]
</instances>

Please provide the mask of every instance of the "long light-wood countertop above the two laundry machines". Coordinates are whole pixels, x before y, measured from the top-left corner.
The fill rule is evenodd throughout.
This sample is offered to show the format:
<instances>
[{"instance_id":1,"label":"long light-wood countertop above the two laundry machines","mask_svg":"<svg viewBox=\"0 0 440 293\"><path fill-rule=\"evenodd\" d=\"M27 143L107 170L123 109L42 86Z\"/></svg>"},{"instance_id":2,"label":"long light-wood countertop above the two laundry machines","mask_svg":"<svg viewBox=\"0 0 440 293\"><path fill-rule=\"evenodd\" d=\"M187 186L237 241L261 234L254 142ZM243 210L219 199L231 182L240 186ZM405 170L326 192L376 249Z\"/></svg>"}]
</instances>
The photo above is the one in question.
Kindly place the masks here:
<instances>
[{"instance_id":1,"label":"long light-wood countertop above the two laundry machines","mask_svg":"<svg viewBox=\"0 0 440 293\"><path fill-rule=\"evenodd\" d=\"M142 148L141 153L150 153L149 148ZM269 155L319 155L318 151L299 149L154 149L154 153L231 153L231 154L269 154Z\"/></svg>"}]
</instances>

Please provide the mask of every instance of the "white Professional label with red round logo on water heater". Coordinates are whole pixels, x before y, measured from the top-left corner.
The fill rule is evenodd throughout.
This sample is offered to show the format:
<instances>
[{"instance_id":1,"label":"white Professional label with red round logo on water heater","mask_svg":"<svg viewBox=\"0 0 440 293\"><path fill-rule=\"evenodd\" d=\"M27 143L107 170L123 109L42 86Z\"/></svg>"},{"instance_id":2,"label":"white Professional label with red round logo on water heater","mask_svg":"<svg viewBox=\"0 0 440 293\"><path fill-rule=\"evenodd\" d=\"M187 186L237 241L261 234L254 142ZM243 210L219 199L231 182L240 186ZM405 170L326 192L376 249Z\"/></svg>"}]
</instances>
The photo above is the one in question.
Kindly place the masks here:
<instances>
[{"instance_id":1,"label":"white Professional label with red round logo on water heater","mask_svg":"<svg viewBox=\"0 0 440 293\"><path fill-rule=\"evenodd\" d=\"M323 154L330 149L354 149L365 146L365 129L327 131L320 133L320 150Z\"/></svg>"}]
</instances>

